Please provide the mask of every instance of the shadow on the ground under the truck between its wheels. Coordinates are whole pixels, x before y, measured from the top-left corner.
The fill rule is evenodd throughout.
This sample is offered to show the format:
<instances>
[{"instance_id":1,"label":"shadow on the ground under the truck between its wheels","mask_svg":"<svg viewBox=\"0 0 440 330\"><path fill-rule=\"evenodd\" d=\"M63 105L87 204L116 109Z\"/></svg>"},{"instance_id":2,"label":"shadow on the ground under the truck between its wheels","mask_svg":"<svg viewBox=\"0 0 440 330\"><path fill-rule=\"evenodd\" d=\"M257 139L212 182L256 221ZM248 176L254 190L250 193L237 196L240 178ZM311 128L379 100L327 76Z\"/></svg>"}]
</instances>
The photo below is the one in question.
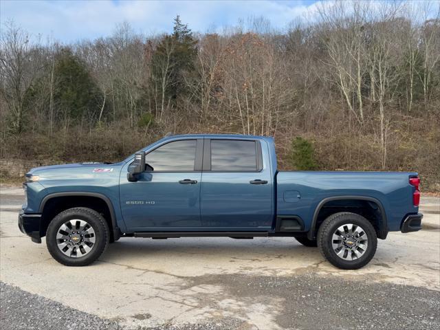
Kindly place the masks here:
<instances>
[{"instance_id":1,"label":"shadow on the ground under the truck between its wheels","mask_svg":"<svg viewBox=\"0 0 440 330\"><path fill-rule=\"evenodd\" d=\"M181 238L181 239L120 239L110 244L102 260L112 263L151 261L157 263L203 260L234 262L279 262L281 259L304 260L309 263L322 261L318 248L306 248L293 238L263 238L236 240L230 238Z\"/></svg>"}]
</instances>

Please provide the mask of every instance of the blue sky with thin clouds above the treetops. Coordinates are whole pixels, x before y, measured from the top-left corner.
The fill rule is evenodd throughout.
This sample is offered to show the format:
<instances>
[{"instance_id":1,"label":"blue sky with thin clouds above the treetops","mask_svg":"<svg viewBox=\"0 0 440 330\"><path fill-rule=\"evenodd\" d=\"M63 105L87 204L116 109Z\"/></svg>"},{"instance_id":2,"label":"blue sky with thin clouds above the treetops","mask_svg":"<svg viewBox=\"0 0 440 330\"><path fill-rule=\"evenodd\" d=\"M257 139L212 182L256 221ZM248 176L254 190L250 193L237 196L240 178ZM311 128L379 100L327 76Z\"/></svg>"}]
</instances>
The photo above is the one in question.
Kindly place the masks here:
<instances>
[{"instance_id":1,"label":"blue sky with thin clouds above the treetops","mask_svg":"<svg viewBox=\"0 0 440 330\"><path fill-rule=\"evenodd\" d=\"M139 0L0 0L1 27L12 20L32 35L62 42L109 36L124 21L136 32L159 34L173 29L177 14L195 32L220 32L240 19L265 17L283 29L316 5L297 1L139 1Z\"/></svg>"}]
</instances>

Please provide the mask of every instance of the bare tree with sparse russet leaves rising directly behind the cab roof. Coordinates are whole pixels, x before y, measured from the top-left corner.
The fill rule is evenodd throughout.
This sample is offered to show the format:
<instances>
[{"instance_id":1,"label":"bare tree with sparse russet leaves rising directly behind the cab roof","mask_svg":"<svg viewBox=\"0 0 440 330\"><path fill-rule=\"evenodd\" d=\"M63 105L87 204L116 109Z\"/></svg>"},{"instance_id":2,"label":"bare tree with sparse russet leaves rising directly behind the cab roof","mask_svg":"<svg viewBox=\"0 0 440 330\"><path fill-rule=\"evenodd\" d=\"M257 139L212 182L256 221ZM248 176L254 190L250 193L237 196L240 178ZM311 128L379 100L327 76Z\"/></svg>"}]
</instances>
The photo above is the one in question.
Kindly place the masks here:
<instances>
[{"instance_id":1,"label":"bare tree with sparse russet leaves rising directly behind the cab roof","mask_svg":"<svg viewBox=\"0 0 440 330\"><path fill-rule=\"evenodd\" d=\"M279 54L252 33L236 37L224 54L218 120L228 126L239 123L243 134L274 134L290 91Z\"/></svg>"}]
</instances>

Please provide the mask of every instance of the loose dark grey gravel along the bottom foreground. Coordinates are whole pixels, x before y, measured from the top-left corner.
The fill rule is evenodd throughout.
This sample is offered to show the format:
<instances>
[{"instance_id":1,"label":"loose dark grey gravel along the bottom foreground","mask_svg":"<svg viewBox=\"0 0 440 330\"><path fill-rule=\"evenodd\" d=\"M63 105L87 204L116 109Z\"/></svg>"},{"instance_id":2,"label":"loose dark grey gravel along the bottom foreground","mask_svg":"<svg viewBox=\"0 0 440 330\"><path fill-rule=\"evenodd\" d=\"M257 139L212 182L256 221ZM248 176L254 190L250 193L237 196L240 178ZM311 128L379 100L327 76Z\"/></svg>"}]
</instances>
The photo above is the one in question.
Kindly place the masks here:
<instances>
[{"instance_id":1,"label":"loose dark grey gravel along the bottom foreground","mask_svg":"<svg viewBox=\"0 0 440 330\"><path fill-rule=\"evenodd\" d=\"M243 317L221 318L186 325L146 327L123 325L118 320L105 320L77 309L66 307L17 287L0 283L0 325L5 330L80 330L80 329L256 329L246 318L274 314L272 329L439 329L440 292L408 285L371 284L366 281L345 281L316 274L303 276L201 276L197 285L228 287L230 298L223 305L239 307L232 297L239 293L248 301ZM216 294L206 297L217 298ZM253 302L253 303L252 303ZM256 303L259 302L259 303ZM209 302L208 302L209 303ZM264 317L264 316L263 316ZM139 320L151 318L139 314ZM265 328L262 328L265 329Z\"/></svg>"}]
</instances>

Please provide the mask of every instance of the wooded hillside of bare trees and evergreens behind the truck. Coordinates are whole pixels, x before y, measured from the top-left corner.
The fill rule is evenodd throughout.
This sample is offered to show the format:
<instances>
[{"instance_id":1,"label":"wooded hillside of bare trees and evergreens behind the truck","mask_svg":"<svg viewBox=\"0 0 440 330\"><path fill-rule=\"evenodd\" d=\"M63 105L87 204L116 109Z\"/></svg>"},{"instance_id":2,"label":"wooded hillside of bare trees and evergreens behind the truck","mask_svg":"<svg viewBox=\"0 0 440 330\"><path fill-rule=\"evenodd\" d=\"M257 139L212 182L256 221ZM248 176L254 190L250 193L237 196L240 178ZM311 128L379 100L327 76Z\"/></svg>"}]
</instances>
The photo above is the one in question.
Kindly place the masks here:
<instances>
[{"instance_id":1,"label":"wooded hillside of bare trees and evergreens behind the truck","mask_svg":"<svg viewBox=\"0 0 440 330\"><path fill-rule=\"evenodd\" d=\"M337 1L284 32L260 18L199 34L177 17L170 34L124 23L68 45L6 22L0 123L1 159L117 161L168 132L271 135L284 169L417 170L440 190L439 3Z\"/></svg>"}]
</instances>

